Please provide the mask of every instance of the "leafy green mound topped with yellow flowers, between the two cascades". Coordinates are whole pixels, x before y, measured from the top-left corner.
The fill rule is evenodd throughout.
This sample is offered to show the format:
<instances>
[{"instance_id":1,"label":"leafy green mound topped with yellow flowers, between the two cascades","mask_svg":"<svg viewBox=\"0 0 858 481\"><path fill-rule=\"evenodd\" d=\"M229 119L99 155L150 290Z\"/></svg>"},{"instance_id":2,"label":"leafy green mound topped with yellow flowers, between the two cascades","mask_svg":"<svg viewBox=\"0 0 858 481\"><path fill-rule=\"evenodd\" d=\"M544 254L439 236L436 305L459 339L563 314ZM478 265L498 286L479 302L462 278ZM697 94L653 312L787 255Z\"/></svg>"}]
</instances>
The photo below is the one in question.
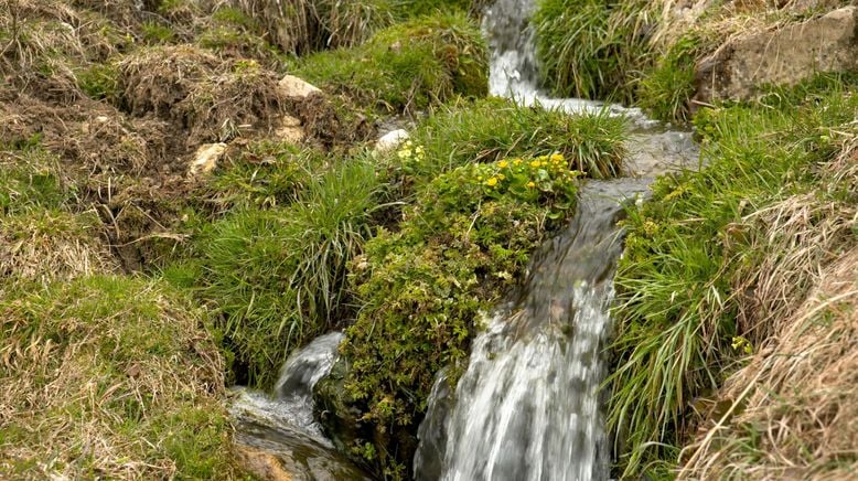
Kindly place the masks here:
<instances>
[{"instance_id":1,"label":"leafy green mound topped with yellow flowers, between the two cascades","mask_svg":"<svg viewBox=\"0 0 858 481\"><path fill-rule=\"evenodd\" d=\"M342 352L356 417L374 430L352 440L353 453L404 474L435 373L461 366L480 313L572 212L575 178L559 154L460 167L420 192L398 232L367 243L352 265L363 308Z\"/></svg>"}]
</instances>

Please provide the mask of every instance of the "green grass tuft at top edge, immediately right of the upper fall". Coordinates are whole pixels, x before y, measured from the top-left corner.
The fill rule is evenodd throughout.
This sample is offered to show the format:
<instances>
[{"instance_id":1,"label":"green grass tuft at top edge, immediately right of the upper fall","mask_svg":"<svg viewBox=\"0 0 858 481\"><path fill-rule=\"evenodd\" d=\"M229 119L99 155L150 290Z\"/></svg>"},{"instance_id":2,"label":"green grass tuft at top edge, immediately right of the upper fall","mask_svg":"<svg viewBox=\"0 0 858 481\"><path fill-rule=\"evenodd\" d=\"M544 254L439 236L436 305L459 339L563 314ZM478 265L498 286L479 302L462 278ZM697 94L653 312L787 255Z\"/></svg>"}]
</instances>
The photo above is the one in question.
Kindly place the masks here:
<instances>
[{"instance_id":1,"label":"green grass tuft at top edge, immediately right of the upper fall","mask_svg":"<svg viewBox=\"0 0 858 481\"><path fill-rule=\"evenodd\" d=\"M646 2L540 0L533 17L543 84L559 96L631 100L646 65Z\"/></svg>"}]
</instances>

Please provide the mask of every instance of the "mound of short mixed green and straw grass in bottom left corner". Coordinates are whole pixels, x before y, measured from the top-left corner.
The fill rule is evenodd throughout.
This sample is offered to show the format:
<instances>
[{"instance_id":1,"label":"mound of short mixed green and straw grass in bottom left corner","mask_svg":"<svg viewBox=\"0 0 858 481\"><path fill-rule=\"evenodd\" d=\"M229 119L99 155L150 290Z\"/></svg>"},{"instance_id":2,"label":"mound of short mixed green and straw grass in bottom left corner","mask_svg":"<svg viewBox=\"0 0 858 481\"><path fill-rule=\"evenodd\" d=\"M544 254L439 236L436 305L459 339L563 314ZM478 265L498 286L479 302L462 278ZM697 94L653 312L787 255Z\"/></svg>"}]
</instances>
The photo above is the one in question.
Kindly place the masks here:
<instances>
[{"instance_id":1,"label":"mound of short mixed green and straw grass in bottom left corner","mask_svg":"<svg viewBox=\"0 0 858 481\"><path fill-rule=\"evenodd\" d=\"M203 311L121 277L7 288L0 342L18 354L0 370L14 407L0 426L0 475L237 474Z\"/></svg>"}]
</instances>

